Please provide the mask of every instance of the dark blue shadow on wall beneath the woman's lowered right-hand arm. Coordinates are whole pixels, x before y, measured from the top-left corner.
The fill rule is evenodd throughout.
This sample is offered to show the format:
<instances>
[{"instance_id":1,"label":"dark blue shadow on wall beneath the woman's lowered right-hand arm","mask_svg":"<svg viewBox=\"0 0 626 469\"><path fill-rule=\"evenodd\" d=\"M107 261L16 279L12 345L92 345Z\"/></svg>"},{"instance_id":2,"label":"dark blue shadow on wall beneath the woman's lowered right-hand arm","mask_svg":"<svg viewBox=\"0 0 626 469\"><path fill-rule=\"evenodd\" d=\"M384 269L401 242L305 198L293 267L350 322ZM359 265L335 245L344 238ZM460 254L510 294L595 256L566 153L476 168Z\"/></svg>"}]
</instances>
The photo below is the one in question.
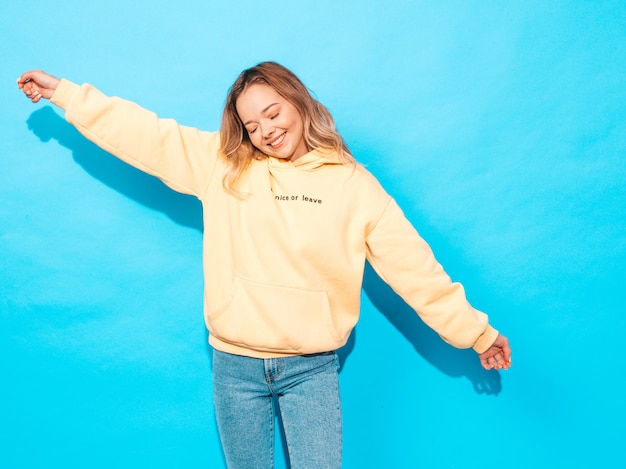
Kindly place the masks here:
<instances>
[{"instance_id":1,"label":"dark blue shadow on wall beneath the woman's lowered right-hand arm","mask_svg":"<svg viewBox=\"0 0 626 469\"><path fill-rule=\"evenodd\" d=\"M444 342L400 298L368 264L363 289L368 298L415 350L441 372L458 378L466 376L478 394L498 395L502 379L497 371L487 371L473 350L460 350Z\"/></svg>"}]
</instances>

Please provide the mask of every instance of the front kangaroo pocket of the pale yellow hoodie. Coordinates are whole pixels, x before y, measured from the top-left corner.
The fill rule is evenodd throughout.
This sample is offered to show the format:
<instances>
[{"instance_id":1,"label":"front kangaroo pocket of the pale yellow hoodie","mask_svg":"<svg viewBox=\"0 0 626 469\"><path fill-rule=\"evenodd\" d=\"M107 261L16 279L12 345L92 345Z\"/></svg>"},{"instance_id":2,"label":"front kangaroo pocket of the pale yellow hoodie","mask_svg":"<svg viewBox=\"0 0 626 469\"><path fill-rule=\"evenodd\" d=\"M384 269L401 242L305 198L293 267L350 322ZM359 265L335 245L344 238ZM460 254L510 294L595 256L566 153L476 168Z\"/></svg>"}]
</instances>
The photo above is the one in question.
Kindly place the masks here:
<instances>
[{"instance_id":1,"label":"front kangaroo pocket of the pale yellow hoodie","mask_svg":"<svg viewBox=\"0 0 626 469\"><path fill-rule=\"evenodd\" d=\"M303 290L236 277L226 304L209 313L211 333L268 352L335 350L341 342L323 290Z\"/></svg>"}]
</instances>

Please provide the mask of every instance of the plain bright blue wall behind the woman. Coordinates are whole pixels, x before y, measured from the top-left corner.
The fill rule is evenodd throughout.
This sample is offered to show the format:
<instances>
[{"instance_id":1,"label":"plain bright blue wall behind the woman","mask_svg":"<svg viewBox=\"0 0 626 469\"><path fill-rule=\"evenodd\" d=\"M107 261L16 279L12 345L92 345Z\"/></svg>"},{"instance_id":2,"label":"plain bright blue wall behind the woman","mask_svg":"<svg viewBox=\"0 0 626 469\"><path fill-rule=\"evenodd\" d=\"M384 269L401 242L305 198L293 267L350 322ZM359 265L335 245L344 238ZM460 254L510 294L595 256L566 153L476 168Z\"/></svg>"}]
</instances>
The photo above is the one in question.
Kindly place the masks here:
<instances>
[{"instance_id":1,"label":"plain bright blue wall behind the woman","mask_svg":"<svg viewBox=\"0 0 626 469\"><path fill-rule=\"evenodd\" d=\"M263 60L329 107L514 348L483 371L368 271L344 467L626 465L624 2L33 0L0 26L0 467L224 464L198 202L15 79L215 130Z\"/></svg>"}]
</instances>

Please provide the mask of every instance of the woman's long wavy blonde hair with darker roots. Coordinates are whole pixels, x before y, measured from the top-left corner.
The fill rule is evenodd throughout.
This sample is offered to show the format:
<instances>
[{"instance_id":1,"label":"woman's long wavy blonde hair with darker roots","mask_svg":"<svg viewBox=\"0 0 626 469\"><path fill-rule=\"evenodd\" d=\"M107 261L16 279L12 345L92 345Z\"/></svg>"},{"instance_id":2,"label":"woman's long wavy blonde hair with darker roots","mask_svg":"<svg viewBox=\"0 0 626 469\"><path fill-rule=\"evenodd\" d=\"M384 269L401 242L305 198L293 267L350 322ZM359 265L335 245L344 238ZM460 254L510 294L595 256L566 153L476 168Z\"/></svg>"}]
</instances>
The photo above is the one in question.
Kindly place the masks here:
<instances>
[{"instance_id":1,"label":"woman's long wavy blonde hair with darker roots","mask_svg":"<svg viewBox=\"0 0 626 469\"><path fill-rule=\"evenodd\" d=\"M267 155L252 145L237 114L237 99L252 84L271 86L295 106L302 117L303 137L309 148L334 150L345 163L354 163L354 158L335 129L333 118L326 107L311 96L306 86L289 69L275 62L262 62L241 72L226 97L220 149L229 163L223 180L226 191L237 195L235 185L250 162L253 159L267 158Z\"/></svg>"}]
</instances>

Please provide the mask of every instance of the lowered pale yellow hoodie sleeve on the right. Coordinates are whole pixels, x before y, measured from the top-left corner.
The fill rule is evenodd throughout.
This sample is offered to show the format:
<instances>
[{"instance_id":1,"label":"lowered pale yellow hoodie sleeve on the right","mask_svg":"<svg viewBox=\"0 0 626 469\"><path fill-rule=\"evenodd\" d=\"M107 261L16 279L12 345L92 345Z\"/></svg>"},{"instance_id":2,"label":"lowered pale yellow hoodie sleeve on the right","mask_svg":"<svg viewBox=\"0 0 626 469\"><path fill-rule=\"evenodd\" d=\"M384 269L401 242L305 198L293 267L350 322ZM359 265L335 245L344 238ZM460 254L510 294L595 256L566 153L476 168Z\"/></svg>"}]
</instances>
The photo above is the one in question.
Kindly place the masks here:
<instances>
[{"instance_id":1,"label":"lowered pale yellow hoodie sleeve on the right","mask_svg":"<svg viewBox=\"0 0 626 469\"><path fill-rule=\"evenodd\" d=\"M367 254L378 275L446 342L478 353L493 344L498 332L487 315L472 308L393 199L367 237Z\"/></svg>"}]
</instances>

